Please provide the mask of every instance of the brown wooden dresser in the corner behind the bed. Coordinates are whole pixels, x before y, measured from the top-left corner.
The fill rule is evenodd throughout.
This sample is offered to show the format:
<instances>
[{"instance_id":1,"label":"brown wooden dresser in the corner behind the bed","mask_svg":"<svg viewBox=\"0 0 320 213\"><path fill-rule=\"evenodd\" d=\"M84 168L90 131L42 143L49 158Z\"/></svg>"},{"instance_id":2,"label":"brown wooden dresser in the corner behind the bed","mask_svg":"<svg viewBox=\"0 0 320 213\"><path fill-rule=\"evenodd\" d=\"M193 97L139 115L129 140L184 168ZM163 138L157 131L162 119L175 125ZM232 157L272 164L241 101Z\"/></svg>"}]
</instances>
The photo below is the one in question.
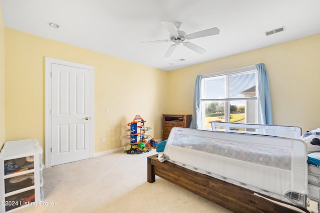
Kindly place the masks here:
<instances>
[{"instance_id":1,"label":"brown wooden dresser in the corner behind the bed","mask_svg":"<svg viewBox=\"0 0 320 213\"><path fill-rule=\"evenodd\" d=\"M163 115L162 140L169 137L172 127L189 128L192 115Z\"/></svg>"}]
</instances>

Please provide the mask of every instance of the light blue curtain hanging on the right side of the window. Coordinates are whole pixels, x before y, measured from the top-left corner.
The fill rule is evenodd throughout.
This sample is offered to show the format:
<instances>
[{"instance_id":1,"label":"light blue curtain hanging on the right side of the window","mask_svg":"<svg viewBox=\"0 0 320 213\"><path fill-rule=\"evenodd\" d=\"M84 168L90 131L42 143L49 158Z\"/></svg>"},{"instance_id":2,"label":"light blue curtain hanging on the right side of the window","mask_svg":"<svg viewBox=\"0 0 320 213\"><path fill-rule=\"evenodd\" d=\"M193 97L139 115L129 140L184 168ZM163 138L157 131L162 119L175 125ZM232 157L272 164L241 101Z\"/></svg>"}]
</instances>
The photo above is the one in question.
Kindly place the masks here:
<instances>
[{"instance_id":1,"label":"light blue curtain hanging on the right side of the window","mask_svg":"<svg viewBox=\"0 0 320 213\"><path fill-rule=\"evenodd\" d=\"M272 125L272 111L268 75L263 63L255 64L258 70L258 124Z\"/></svg>"}]
</instances>

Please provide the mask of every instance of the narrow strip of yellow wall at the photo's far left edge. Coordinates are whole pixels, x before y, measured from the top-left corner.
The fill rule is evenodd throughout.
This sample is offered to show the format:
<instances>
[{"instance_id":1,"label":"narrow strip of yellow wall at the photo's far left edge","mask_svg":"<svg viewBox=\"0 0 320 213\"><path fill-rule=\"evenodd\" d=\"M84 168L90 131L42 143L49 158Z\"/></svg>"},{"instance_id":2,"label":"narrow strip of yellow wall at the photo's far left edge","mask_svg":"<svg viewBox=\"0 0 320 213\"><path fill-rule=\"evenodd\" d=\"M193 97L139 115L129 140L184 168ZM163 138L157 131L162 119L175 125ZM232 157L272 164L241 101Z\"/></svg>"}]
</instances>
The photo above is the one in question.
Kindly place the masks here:
<instances>
[{"instance_id":1,"label":"narrow strip of yellow wall at the photo's far left edge","mask_svg":"<svg viewBox=\"0 0 320 213\"><path fill-rule=\"evenodd\" d=\"M4 22L0 4L0 149L5 140L4 112Z\"/></svg>"}]
</instances>

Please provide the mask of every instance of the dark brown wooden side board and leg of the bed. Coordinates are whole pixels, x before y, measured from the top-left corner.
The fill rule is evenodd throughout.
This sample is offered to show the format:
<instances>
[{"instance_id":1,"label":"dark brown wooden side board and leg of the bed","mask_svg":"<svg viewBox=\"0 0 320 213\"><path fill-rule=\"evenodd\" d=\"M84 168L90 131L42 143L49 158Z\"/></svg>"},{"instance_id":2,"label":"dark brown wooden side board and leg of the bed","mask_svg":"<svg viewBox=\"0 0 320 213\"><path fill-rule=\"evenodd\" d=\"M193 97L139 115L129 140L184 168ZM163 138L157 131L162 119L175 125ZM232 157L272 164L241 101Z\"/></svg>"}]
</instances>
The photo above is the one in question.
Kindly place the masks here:
<instances>
[{"instance_id":1,"label":"dark brown wooden side board and leg of the bed","mask_svg":"<svg viewBox=\"0 0 320 213\"><path fill-rule=\"evenodd\" d=\"M254 192L251 190L188 170L167 161L161 163L156 157L157 155L147 157L147 181L149 183L155 181L156 175L236 213L296 213L296 211L253 195ZM267 198L281 202L270 197ZM303 208L299 209L308 213Z\"/></svg>"}]
</instances>

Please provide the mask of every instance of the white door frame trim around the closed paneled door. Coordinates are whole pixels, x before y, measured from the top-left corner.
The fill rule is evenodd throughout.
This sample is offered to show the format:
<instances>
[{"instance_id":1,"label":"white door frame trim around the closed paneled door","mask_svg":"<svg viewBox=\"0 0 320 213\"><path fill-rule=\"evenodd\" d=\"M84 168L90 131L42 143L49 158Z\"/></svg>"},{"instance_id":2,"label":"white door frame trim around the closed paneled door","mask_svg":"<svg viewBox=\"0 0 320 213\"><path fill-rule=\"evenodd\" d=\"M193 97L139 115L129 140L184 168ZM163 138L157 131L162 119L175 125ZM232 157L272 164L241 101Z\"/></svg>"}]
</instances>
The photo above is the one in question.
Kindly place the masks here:
<instances>
[{"instance_id":1,"label":"white door frame trim around the closed paneled door","mask_svg":"<svg viewBox=\"0 0 320 213\"><path fill-rule=\"evenodd\" d=\"M73 66L90 70L90 158L94 154L94 67L45 57L45 168L51 167L51 69L52 64Z\"/></svg>"}]
</instances>

